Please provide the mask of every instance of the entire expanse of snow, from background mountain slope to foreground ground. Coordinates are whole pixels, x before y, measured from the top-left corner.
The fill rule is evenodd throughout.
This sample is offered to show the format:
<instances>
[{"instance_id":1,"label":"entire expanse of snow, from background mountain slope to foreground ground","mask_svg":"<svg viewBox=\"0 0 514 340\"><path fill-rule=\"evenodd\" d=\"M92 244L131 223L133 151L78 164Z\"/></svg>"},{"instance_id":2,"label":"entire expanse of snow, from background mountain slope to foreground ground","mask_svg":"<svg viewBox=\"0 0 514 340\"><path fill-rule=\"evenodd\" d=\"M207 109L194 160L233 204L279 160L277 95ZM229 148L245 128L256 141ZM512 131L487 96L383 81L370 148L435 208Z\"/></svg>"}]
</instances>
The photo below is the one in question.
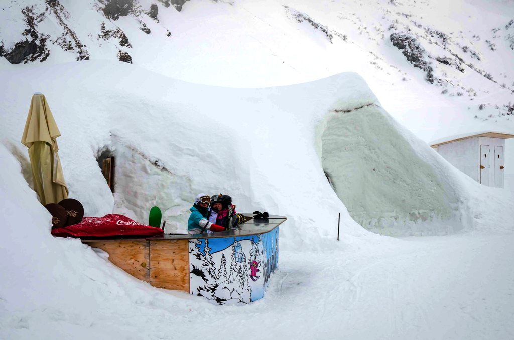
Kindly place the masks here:
<instances>
[{"instance_id":1,"label":"entire expanse of snow, from background mountain slope to foreground ground","mask_svg":"<svg viewBox=\"0 0 514 340\"><path fill-rule=\"evenodd\" d=\"M512 195L474 182L426 142L514 131L513 8L2 3L0 337L508 338ZM157 204L167 231L183 231L195 194L219 191L240 212L286 215L265 298L219 309L52 237L20 143L35 91L59 125L70 195L87 215L144 221ZM97 163L106 154L118 159L114 197ZM405 241L356 221L458 235Z\"/></svg>"}]
</instances>

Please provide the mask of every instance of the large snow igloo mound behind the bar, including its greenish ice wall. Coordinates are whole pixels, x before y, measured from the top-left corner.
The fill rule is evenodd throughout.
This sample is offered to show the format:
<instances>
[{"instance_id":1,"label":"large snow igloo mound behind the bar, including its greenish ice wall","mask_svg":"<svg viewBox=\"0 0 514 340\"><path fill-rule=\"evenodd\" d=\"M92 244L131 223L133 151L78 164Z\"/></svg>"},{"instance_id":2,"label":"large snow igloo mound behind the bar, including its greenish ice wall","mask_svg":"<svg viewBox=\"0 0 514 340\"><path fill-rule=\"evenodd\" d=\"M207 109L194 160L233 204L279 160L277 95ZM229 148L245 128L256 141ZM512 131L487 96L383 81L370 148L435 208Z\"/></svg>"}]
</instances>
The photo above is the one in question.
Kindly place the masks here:
<instances>
[{"instance_id":1,"label":"large snow igloo mound behind the bar, including its greenish ice wall","mask_svg":"<svg viewBox=\"0 0 514 340\"><path fill-rule=\"evenodd\" d=\"M348 242L365 234L339 195L355 219L382 232L473 226L461 204L467 180L449 177L451 166L394 122L355 73L262 89L191 84L94 61L1 75L11 85L0 94L3 144L30 184L20 131L32 92L43 92L61 130L70 197L86 215L114 210L145 221L158 205L167 232L185 232L196 193L222 192L238 211L287 216L285 247L319 248L334 238L339 212ZM105 154L116 157L114 197L97 163ZM434 230L440 223L425 220L446 224Z\"/></svg>"}]
</instances>

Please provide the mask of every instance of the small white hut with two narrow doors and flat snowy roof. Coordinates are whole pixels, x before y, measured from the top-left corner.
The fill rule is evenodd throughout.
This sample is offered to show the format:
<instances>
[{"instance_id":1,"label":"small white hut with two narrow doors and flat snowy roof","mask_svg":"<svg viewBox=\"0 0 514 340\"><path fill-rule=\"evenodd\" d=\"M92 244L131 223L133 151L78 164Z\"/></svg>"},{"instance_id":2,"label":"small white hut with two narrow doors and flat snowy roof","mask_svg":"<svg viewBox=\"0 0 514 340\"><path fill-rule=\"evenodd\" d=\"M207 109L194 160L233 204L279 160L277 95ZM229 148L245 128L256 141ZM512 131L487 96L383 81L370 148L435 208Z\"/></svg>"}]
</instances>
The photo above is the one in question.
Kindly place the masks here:
<instances>
[{"instance_id":1,"label":"small white hut with two narrow doors and flat snowy roof","mask_svg":"<svg viewBox=\"0 0 514 340\"><path fill-rule=\"evenodd\" d=\"M483 132L430 143L450 164L484 185L503 187L505 140L514 135Z\"/></svg>"}]
</instances>

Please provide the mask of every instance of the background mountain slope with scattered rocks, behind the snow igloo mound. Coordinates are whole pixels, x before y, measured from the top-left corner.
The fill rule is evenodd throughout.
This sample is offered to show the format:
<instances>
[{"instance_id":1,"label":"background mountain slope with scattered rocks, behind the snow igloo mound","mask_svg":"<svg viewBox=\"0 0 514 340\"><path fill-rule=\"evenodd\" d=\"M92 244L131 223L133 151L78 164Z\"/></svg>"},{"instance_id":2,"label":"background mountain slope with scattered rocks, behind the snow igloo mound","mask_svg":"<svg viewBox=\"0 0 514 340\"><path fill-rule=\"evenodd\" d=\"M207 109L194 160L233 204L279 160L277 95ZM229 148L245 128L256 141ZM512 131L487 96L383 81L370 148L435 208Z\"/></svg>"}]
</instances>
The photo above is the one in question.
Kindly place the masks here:
<instances>
[{"instance_id":1,"label":"background mountain slope with scattered rocks, behind the snow igloo mound","mask_svg":"<svg viewBox=\"0 0 514 340\"><path fill-rule=\"evenodd\" d=\"M426 142L514 131L511 0L20 0L4 4L0 16L0 54L25 55L15 62L123 60L231 87L355 71L382 106ZM514 174L510 145L507 178Z\"/></svg>"}]
</instances>

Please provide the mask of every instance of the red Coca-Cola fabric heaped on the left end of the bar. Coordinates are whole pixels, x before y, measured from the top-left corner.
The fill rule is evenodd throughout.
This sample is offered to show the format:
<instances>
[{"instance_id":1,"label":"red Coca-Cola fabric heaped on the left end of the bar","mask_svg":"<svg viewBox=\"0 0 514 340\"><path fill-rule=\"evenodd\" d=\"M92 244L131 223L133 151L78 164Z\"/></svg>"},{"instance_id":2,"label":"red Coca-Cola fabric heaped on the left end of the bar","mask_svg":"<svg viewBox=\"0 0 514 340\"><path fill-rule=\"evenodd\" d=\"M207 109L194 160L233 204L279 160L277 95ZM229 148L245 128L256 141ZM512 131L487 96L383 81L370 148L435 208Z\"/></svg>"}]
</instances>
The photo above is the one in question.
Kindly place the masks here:
<instances>
[{"instance_id":1,"label":"red Coca-Cola fabric heaped on the left end of the bar","mask_svg":"<svg viewBox=\"0 0 514 340\"><path fill-rule=\"evenodd\" d=\"M119 214L84 217L80 223L52 229L53 236L61 237L158 236L162 234L163 231L160 228L139 223Z\"/></svg>"}]
</instances>

